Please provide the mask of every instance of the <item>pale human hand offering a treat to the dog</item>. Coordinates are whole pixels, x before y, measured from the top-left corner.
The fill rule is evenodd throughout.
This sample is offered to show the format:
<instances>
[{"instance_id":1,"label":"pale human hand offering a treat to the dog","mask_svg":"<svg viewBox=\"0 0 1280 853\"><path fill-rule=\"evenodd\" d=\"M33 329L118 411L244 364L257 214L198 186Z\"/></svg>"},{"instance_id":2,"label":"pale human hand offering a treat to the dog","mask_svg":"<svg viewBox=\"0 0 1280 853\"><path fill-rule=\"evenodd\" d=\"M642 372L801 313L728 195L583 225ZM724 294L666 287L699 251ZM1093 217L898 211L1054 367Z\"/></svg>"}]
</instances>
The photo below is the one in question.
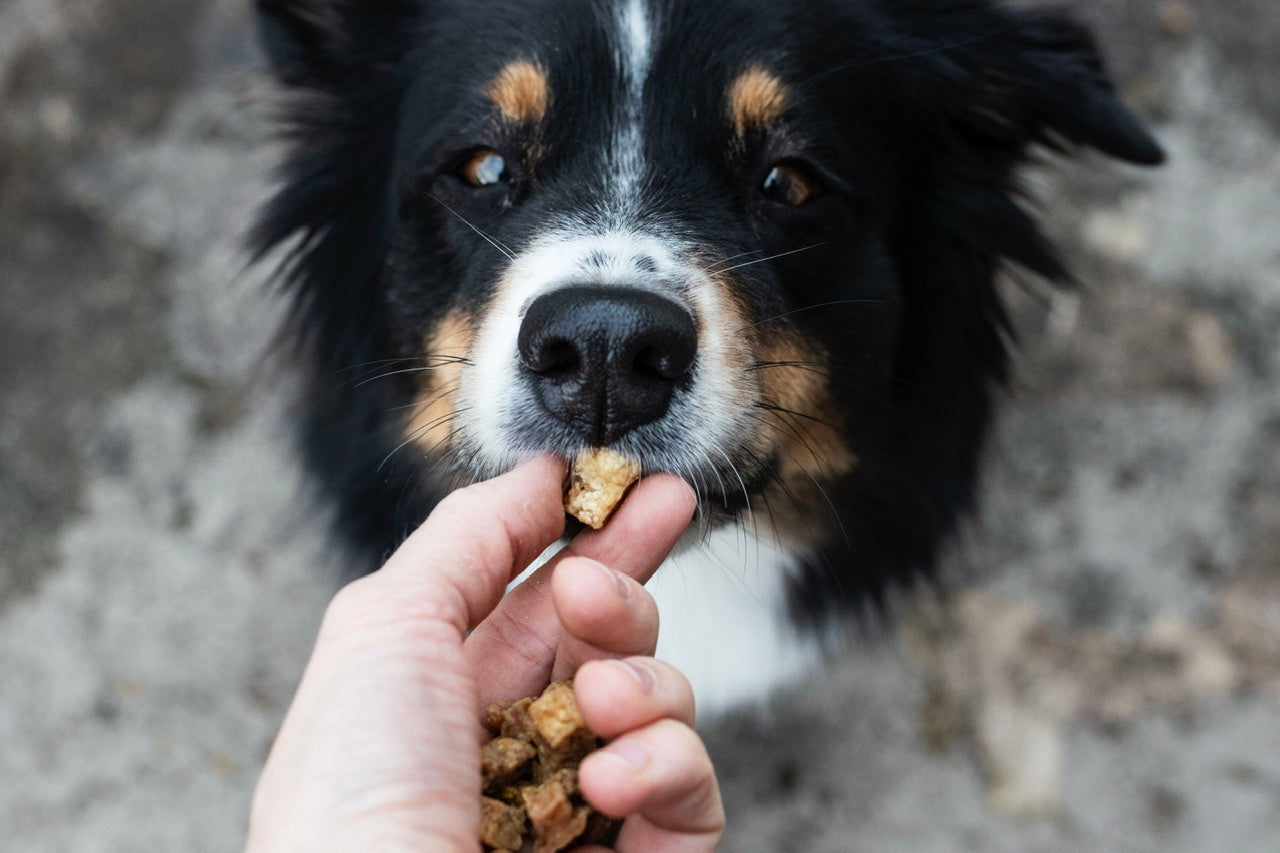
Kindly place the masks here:
<instances>
[{"instance_id":1,"label":"pale human hand offering a treat to the dog","mask_svg":"<svg viewBox=\"0 0 1280 853\"><path fill-rule=\"evenodd\" d=\"M609 744L586 798L625 817L623 852L713 850L724 826L694 699L652 657L643 583L694 510L672 476L639 484L509 596L563 533L563 466L538 459L443 501L374 575L330 605L259 781L247 850L476 850L481 710L576 672ZM596 848L598 849L598 848Z\"/></svg>"}]
</instances>

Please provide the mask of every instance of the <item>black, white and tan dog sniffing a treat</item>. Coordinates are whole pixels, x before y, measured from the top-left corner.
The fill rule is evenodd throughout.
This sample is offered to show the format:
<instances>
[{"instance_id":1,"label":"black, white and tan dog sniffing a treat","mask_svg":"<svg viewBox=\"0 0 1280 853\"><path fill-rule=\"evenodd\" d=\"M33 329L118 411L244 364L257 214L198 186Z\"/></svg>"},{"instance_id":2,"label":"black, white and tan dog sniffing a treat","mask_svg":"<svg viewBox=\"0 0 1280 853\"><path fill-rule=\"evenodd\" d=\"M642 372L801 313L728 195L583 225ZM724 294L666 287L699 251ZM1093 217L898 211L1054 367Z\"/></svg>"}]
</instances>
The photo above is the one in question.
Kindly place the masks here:
<instances>
[{"instance_id":1,"label":"black, white and tan dog sniffing a treat","mask_svg":"<svg viewBox=\"0 0 1280 853\"><path fill-rule=\"evenodd\" d=\"M700 704L927 578L973 507L1042 152L1162 152L1062 12L257 0L303 446L374 569L458 485L608 446L699 496L652 581ZM283 247L283 248L282 248Z\"/></svg>"}]
</instances>

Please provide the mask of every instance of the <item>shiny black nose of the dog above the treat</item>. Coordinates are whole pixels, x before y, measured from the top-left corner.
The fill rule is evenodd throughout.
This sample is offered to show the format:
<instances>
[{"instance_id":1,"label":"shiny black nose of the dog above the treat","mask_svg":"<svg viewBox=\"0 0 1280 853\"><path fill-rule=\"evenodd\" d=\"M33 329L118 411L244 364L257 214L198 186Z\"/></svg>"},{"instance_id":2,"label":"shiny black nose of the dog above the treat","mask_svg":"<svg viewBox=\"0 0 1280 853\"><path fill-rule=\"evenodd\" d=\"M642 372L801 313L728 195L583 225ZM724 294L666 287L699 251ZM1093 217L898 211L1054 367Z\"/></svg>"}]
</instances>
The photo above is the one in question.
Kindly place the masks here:
<instances>
[{"instance_id":1,"label":"shiny black nose of the dog above the treat","mask_svg":"<svg viewBox=\"0 0 1280 853\"><path fill-rule=\"evenodd\" d=\"M594 444L666 415L696 352L689 311L630 287L553 291L520 327L520 357L543 406Z\"/></svg>"}]
</instances>

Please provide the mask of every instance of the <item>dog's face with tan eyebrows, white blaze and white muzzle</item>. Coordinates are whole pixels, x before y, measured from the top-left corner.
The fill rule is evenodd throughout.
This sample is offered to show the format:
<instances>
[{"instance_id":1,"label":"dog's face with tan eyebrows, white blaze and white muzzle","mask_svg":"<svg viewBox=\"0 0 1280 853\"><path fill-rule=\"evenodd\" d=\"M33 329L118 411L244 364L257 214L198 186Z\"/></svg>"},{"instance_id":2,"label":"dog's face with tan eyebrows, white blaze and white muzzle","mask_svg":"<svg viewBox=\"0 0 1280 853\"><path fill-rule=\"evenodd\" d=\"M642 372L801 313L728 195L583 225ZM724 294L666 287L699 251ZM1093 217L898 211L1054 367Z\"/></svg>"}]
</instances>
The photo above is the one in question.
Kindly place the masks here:
<instances>
[{"instance_id":1,"label":"dog's face with tan eyebrows, white blaze and white muzzle","mask_svg":"<svg viewBox=\"0 0 1280 853\"><path fill-rule=\"evenodd\" d=\"M900 325L896 164L831 120L867 95L822 86L836 56L804 38L759 4L640 0L430 36L389 282L435 368L419 452L479 476L608 444L722 511L851 470Z\"/></svg>"}]
</instances>

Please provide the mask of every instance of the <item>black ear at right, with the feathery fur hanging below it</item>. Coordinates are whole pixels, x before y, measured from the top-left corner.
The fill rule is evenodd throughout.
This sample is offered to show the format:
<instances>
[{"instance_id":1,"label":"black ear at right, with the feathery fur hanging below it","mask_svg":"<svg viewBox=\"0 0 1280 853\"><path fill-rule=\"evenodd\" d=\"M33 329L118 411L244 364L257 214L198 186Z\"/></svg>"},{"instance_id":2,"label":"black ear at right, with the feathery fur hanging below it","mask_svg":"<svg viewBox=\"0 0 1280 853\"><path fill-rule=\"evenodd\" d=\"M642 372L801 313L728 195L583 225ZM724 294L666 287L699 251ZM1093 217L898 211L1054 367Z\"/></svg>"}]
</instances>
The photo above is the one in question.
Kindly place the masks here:
<instances>
[{"instance_id":1,"label":"black ear at right, with the feathery fur hanging below it","mask_svg":"<svg viewBox=\"0 0 1280 853\"><path fill-rule=\"evenodd\" d=\"M938 224L988 257L1069 280L1018 204L1018 167L1036 145L1164 160L1120 102L1089 31L1061 12L991 0L893 0L893 14L905 15L895 42L910 59L900 65L909 97L916 115L931 117L918 129L928 138Z\"/></svg>"}]
</instances>

